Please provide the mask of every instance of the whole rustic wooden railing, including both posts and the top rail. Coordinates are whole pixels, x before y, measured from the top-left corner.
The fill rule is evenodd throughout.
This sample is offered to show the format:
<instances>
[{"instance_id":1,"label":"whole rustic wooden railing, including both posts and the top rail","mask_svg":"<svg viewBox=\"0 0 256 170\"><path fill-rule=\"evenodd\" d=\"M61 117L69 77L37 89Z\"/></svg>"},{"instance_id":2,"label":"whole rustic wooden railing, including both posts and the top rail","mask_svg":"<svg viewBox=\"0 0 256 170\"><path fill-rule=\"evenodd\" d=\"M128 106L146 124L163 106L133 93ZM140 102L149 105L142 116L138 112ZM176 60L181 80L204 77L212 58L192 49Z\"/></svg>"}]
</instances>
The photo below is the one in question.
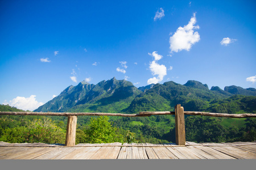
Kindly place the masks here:
<instances>
[{"instance_id":1,"label":"whole rustic wooden railing, including both posts and the top rail","mask_svg":"<svg viewBox=\"0 0 256 170\"><path fill-rule=\"evenodd\" d=\"M122 113L56 113L56 112L0 112L0 115L37 115L37 116L67 116L67 133L65 146L76 145L76 122L77 116L121 116L121 117L145 117L152 115L175 114L176 145L185 146L185 119L184 114L213 116L213 117L256 117L256 114L226 114L226 113L209 113L209 112L190 112L184 111L180 104L175 106L175 112L139 112L139 114L122 114Z\"/></svg>"}]
</instances>

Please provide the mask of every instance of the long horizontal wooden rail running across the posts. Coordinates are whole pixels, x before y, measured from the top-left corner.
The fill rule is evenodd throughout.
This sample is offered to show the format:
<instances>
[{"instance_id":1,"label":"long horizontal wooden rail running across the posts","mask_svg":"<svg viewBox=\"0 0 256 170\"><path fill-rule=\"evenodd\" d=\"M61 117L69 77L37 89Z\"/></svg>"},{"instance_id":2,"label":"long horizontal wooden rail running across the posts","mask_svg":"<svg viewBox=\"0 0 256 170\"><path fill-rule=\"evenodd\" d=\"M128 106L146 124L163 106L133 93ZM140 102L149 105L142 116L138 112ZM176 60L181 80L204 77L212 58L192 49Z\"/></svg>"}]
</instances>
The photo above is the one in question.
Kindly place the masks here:
<instances>
[{"instance_id":1,"label":"long horizontal wooden rail running across the posts","mask_svg":"<svg viewBox=\"0 0 256 170\"><path fill-rule=\"evenodd\" d=\"M0 112L0 115L34 115L34 116L121 116L121 117L145 117L152 115L175 114L175 112L139 112L139 114L123 114L123 113L61 113L61 112ZM209 113L209 112L191 112L184 111L187 115L200 115L212 117L256 117L255 113L228 114L228 113Z\"/></svg>"}]
</instances>

